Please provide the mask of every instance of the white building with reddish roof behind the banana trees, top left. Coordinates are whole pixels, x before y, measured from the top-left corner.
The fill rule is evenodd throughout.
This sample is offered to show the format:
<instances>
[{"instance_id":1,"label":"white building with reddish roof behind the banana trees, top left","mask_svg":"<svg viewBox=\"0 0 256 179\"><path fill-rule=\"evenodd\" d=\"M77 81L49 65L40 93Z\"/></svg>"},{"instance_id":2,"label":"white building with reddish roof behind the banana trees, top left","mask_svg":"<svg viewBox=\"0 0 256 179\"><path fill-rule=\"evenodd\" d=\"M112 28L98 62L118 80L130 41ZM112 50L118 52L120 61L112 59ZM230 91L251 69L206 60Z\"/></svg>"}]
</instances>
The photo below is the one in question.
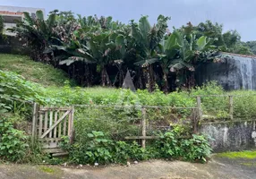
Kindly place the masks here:
<instances>
[{"instance_id":1,"label":"white building with reddish roof behind the banana trees, top left","mask_svg":"<svg viewBox=\"0 0 256 179\"><path fill-rule=\"evenodd\" d=\"M15 35L9 31L8 28L12 28L15 26L15 21L22 21L23 12L28 12L32 17L36 17L36 12L41 10L44 15L45 9L43 8L33 8L33 7L15 7L15 6L4 6L0 5L0 15L3 16L4 19L4 33L6 35Z\"/></svg>"}]
</instances>

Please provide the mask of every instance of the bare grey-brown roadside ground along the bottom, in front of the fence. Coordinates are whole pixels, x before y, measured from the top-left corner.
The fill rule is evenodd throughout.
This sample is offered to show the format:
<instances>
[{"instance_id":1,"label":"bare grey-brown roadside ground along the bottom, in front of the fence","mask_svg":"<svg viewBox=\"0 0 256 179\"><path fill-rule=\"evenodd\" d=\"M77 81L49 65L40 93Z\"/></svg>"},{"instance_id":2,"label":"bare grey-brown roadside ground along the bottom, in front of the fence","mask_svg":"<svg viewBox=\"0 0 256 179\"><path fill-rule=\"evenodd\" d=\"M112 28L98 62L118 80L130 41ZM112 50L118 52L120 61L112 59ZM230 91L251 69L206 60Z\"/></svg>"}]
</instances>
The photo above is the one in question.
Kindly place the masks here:
<instances>
[{"instance_id":1,"label":"bare grey-brown roadside ground along the bottom, in front of the fence","mask_svg":"<svg viewBox=\"0 0 256 179\"><path fill-rule=\"evenodd\" d=\"M0 179L256 179L256 159L213 156L208 164L152 160L132 166L81 168L0 165Z\"/></svg>"}]
</instances>

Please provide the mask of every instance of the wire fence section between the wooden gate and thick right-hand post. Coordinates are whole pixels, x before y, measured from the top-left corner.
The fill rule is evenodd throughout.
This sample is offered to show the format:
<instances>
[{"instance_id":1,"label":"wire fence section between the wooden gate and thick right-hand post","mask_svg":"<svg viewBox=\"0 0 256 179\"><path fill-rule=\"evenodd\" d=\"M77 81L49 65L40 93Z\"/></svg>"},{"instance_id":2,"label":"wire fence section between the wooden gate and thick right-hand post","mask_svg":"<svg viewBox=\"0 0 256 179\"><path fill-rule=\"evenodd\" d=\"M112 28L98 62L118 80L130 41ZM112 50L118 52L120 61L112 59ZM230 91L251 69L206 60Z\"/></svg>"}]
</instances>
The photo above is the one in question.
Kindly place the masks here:
<instances>
[{"instance_id":1,"label":"wire fence section between the wooden gate and thick right-hand post","mask_svg":"<svg viewBox=\"0 0 256 179\"><path fill-rule=\"evenodd\" d=\"M76 137L101 131L114 140L150 140L175 125L195 130L197 107L75 106Z\"/></svg>"}]
</instances>

